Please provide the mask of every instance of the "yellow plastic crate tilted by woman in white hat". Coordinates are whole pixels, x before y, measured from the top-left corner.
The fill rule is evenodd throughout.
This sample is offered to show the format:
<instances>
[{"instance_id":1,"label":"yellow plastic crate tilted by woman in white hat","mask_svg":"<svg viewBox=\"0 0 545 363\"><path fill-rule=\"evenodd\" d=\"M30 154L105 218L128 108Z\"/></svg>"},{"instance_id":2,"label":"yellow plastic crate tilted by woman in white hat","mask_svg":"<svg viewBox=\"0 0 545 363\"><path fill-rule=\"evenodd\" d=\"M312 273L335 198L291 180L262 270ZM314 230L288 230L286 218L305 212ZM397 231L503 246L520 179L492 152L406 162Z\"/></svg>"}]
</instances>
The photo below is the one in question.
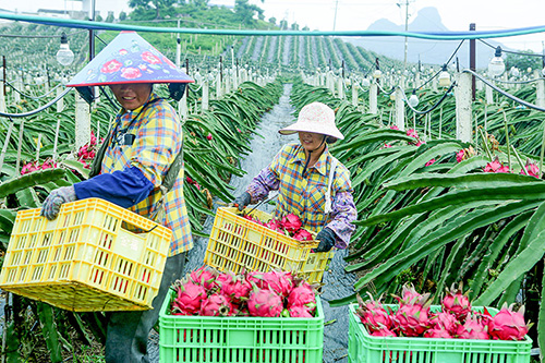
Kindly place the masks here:
<instances>
[{"instance_id":1,"label":"yellow plastic crate tilted by woman in white hat","mask_svg":"<svg viewBox=\"0 0 545 363\"><path fill-rule=\"evenodd\" d=\"M216 211L204 263L221 271L268 271L278 268L296 271L311 283L322 282L332 252L311 253L318 241L298 241L243 218L238 208ZM263 210L252 216L262 221L272 218Z\"/></svg>"}]
</instances>

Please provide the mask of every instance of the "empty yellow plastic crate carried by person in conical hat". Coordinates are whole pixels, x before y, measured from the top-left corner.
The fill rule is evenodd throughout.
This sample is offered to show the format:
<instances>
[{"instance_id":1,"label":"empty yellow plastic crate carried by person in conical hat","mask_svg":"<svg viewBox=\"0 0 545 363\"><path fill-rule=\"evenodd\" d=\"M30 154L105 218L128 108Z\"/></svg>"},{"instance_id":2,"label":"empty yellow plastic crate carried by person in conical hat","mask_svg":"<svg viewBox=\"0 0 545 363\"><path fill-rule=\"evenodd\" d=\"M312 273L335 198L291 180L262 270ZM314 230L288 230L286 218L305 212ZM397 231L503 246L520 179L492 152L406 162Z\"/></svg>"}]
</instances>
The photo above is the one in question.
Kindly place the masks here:
<instances>
[{"instance_id":1,"label":"empty yellow plastic crate carried by person in conical hat","mask_svg":"<svg viewBox=\"0 0 545 363\"><path fill-rule=\"evenodd\" d=\"M99 198L17 213L0 288L73 312L148 310L172 232Z\"/></svg>"}]
</instances>

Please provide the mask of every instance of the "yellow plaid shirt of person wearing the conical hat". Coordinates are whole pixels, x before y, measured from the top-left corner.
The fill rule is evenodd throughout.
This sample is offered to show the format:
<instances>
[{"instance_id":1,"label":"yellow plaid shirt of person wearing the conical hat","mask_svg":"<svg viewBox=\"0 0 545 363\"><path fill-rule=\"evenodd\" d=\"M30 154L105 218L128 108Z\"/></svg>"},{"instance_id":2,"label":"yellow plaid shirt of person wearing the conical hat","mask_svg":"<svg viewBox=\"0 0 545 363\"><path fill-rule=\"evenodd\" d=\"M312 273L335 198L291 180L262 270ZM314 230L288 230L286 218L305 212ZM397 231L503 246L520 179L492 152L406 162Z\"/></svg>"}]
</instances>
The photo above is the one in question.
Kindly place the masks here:
<instances>
[{"instance_id":1,"label":"yellow plaid shirt of person wearing the conical hat","mask_svg":"<svg viewBox=\"0 0 545 363\"><path fill-rule=\"evenodd\" d=\"M152 93L148 101L156 98L157 95ZM147 198L129 209L149 217L154 215L156 204L161 196L159 186L162 179L182 147L183 135L178 114L166 100L157 100L144 110L143 108L144 106L132 111L122 110L116 117L114 137L106 150L101 173L111 173L116 170L123 170L125 167L137 167L154 184L154 190ZM123 130L125 134L135 135L132 145L116 143L114 138L120 130ZM165 214L157 222L172 230L169 256L193 247L191 226L183 197L183 168L180 169L172 190L167 194Z\"/></svg>"}]
</instances>

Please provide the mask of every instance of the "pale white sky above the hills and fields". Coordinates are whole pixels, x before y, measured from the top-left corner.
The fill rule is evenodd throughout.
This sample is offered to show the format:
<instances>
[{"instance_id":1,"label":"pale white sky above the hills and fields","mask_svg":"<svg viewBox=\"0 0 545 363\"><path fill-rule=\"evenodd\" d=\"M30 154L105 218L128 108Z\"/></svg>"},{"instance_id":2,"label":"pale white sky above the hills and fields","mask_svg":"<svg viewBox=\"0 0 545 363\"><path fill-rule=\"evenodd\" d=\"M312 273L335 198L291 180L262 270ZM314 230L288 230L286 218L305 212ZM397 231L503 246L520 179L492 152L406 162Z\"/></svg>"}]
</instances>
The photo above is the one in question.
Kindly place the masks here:
<instances>
[{"instance_id":1,"label":"pale white sky above the hills and fields","mask_svg":"<svg viewBox=\"0 0 545 363\"><path fill-rule=\"evenodd\" d=\"M106 17L108 10L116 14L130 12L129 0L95 0L95 7ZM508 29L545 25L544 0L250 0L265 10L265 19L286 19L311 29L365 31L373 22L388 19L396 24L405 22L405 1L409 1L409 24L419 10L435 7L443 24L450 31L468 31L470 23L477 31ZM210 3L233 4L234 0L210 0ZM0 0L0 9L32 12L39 8L81 10L81 1L68 0ZM337 16L336 16L337 14ZM410 31L410 27L409 27ZM402 37L397 38L403 41ZM545 33L498 39L512 49L542 52Z\"/></svg>"}]
</instances>

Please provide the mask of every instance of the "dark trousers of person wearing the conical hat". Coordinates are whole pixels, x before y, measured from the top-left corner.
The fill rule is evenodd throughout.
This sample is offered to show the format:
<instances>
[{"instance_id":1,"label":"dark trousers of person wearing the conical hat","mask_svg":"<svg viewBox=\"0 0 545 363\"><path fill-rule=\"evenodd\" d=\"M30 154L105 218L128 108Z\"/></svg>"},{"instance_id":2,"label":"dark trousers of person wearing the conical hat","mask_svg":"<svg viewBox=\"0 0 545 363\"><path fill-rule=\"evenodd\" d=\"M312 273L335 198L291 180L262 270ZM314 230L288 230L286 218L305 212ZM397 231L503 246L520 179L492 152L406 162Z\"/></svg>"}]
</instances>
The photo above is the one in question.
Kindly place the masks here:
<instances>
[{"instance_id":1,"label":"dark trousers of person wearing the conical hat","mask_svg":"<svg viewBox=\"0 0 545 363\"><path fill-rule=\"evenodd\" d=\"M116 312L107 314L106 362L147 363L147 340L159 311L177 279L182 278L185 253L167 258L159 293L152 302L152 310L138 312Z\"/></svg>"}]
</instances>

